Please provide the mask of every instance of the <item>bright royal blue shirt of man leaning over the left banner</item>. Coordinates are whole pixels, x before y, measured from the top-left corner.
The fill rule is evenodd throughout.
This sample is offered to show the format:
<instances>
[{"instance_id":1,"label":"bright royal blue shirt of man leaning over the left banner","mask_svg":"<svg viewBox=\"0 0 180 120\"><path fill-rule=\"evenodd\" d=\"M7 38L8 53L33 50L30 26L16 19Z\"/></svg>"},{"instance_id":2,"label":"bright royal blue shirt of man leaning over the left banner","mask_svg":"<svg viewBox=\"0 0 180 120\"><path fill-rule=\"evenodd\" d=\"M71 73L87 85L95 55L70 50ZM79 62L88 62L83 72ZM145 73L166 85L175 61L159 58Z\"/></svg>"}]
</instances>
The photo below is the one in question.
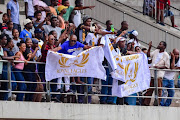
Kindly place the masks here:
<instances>
[{"instance_id":1,"label":"bright royal blue shirt of man leaning over the left banner","mask_svg":"<svg viewBox=\"0 0 180 120\"><path fill-rule=\"evenodd\" d=\"M61 48L62 49L60 51L58 51L58 52L72 55L73 52L84 48L84 44L77 41L74 46L70 46L69 41L66 41L61 45Z\"/></svg>"}]
</instances>

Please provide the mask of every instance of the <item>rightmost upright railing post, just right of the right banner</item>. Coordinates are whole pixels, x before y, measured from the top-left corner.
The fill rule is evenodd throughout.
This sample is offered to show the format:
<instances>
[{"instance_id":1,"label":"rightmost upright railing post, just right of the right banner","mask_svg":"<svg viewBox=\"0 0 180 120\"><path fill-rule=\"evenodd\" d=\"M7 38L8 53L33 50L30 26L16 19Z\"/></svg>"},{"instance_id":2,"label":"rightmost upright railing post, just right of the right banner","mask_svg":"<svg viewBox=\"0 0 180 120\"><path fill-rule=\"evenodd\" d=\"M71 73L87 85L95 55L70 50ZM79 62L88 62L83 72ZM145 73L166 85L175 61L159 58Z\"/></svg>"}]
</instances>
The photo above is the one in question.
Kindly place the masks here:
<instances>
[{"instance_id":1,"label":"rightmost upright railing post, just right of the right banner","mask_svg":"<svg viewBox=\"0 0 180 120\"><path fill-rule=\"evenodd\" d=\"M154 106L158 106L159 100L158 100L158 79L157 79L157 69L154 70L154 87L155 87L155 100L154 100ZM160 96L161 97L161 96Z\"/></svg>"}]
</instances>

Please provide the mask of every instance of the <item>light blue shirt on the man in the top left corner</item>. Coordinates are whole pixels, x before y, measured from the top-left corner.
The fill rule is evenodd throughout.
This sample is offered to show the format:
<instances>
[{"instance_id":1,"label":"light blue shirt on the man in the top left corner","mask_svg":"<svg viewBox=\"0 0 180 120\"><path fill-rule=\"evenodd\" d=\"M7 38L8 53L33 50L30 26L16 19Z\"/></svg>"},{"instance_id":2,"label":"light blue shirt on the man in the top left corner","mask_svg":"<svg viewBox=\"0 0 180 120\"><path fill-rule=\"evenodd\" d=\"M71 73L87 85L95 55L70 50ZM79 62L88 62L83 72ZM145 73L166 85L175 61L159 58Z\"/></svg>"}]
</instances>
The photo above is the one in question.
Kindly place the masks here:
<instances>
[{"instance_id":1,"label":"light blue shirt on the man in the top left corner","mask_svg":"<svg viewBox=\"0 0 180 120\"><path fill-rule=\"evenodd\" d=\"M7 3L7 9L11 10L11 20L15 24L19 24L19 3L13 0Z\"/></svg>"}]
</instances>

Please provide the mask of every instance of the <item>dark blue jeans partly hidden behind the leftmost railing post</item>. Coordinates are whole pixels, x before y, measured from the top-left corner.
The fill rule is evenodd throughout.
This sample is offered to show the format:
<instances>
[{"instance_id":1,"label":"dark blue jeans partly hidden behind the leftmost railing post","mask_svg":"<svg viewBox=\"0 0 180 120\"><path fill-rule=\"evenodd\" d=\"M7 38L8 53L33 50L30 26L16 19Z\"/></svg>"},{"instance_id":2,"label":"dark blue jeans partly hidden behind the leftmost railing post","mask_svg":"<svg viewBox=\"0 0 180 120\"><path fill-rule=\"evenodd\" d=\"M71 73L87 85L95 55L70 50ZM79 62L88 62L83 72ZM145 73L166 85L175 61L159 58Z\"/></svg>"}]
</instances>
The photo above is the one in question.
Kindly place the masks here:
<instances>
[{"instance_id":1,"label":"dark blue jeans partly hidden behind the leftmost railing post","mask_svg":"<svg viewBox=\"0 0 180 120\"><path fill-rule=\"evenodd\" d=\"M3 80L8 80L7 70L8 70L7 64L4 64L4 65L3 65L3 73L2 73L2 79L3 79ZM11 71L12 71L12 67L11 67ZM12 80L12 81L16 81L13 72L11 72L11 80ZM16 89L16 87L17 87L17 83L16 83L16 82L12 82L11 85L12 85L12 91L14 91L14 90ZM8 90L8 82L2 82L1 86L2 86L1 89L3 89L3 90ZM4 96L4 97L3 97L4 100L7 100L7 99L8 99L8 93L4 93L3 96Z\"/></svg>"}]
</instances>

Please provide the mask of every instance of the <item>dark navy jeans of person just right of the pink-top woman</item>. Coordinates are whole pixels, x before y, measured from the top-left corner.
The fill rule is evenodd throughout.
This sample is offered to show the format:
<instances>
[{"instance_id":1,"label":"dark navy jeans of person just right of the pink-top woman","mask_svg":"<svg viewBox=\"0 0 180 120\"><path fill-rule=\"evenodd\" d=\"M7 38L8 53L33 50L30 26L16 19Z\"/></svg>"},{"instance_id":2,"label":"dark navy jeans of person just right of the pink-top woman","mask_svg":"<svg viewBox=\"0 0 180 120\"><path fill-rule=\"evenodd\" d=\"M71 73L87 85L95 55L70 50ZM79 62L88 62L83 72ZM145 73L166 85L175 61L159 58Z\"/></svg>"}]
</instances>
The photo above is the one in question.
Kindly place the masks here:
<instances>
[{"instance_id":1,"label":"dark navy jeans of person just right of the pink-top woman","mask_svg":"<svg viewBox=\"0 0 180 120\"><path fill-rule=\"evenodd\" d=\"M34 71L30 70L30 69L24 69L25 72L27 73L24 73L24 78L25 78L25 81L28 81L28 82L36 82L36 76L35 76L35 73L33 73ZM36 90L36 86L37 84L35 83L27 83L26 84L27 86L27 91L30 91L30 92L34 92ZM32 93L26 93L25 94L25 101L32 101L33 100L33 95Z\"/></svg>"}]
</instances>

